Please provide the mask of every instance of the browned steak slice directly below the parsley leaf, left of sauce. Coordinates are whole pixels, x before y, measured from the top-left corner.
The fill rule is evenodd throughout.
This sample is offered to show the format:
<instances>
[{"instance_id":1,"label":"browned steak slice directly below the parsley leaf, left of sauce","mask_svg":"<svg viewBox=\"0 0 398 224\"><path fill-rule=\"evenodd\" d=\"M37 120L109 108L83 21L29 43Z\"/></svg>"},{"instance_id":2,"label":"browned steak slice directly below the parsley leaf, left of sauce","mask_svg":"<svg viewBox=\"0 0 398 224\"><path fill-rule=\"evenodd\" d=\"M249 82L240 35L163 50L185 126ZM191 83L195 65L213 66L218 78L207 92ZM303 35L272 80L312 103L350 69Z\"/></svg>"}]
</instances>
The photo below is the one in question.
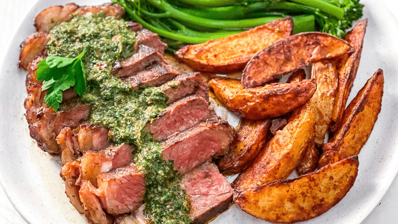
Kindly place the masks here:
<instances>
[{"instance_id":1,"label":"browned steak slice directly below the parsley leaf, left of sauce","mask_svg":"<svg viewBox=\"0 0 398 224\"><path fill-rule=\"evenodd\" d=\"M87 120L89 112L88 104L76 104L56 113L52 108L35 108L26 113L30 136L37 141L37 145L43 151L60 153L55 137L62 128L76 128L81 121Z\"/></svg>"}]
</instances>

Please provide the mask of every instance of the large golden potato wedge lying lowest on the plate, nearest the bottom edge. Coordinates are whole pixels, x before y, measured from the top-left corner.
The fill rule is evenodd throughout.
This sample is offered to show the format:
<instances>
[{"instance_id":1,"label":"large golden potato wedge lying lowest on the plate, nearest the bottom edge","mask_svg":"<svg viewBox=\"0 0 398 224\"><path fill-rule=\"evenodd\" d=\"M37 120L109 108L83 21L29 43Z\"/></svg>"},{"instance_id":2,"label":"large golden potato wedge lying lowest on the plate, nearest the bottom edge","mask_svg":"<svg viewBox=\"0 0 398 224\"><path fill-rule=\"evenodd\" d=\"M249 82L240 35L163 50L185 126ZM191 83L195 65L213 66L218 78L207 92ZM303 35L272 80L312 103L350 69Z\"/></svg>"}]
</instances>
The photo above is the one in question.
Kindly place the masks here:
<instances>
[{"instance_id":1,"label":"large golden potato wedge lying lowest on the plate, nearest the bottom edge","mask_svg":"<svg viewBox=\"0 0 398 224\"><path fill-rule=\"evenodd\" d=\"M296 179L234 190L234 201L245 212L275 223L293 223L319 216L335 206L354 185L358 157L322 167Z\"/></svg>"}]
</instances>

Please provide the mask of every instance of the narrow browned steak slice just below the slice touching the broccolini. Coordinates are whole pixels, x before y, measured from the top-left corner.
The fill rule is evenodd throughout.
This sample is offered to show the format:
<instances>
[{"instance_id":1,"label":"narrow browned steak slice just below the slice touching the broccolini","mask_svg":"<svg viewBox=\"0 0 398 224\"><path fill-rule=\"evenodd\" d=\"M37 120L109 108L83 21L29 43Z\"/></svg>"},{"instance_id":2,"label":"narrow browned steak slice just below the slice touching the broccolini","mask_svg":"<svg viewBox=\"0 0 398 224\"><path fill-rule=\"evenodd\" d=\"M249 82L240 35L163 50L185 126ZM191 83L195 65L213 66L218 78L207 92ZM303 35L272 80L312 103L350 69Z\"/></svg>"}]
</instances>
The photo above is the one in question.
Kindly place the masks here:
<instances>
[{"instance_id":1,"label":"narrow browned steak slice just below the slice touching the broccolini","mask_svg":"<svg viewBox=\"0 0 398 224\"><path fill-rule=\"evenodd\" d=\"M153 48L146 45L138 45L137 52L128 59L113 66L112 72L117 77L137 75L147 66L164 63L163 56Z\"/></svg>"}]
</instances>

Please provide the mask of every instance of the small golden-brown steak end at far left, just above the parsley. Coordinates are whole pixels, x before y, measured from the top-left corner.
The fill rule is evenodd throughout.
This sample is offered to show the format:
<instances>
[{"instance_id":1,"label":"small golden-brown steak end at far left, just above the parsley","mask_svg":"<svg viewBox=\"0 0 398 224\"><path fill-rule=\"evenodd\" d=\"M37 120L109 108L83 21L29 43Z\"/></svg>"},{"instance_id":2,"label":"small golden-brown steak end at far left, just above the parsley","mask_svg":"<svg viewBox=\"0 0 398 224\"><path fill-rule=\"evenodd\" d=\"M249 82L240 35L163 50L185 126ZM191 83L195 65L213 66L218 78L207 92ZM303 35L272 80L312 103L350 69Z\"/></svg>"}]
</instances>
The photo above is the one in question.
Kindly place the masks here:
<instances>
[{"instance_id":1,"label":"small golden-brown steak end at far left, just above the parsley","mask_svg":"<svg viewBox=\"0 0 398 224\"><path fill-rule=\"evenodd\" d=\"M50 41L45 32L32 33L21 44L20 61L18 66L26 69L26 67L35 59L36 56L42 55L46 44Z\"/></svg>"}]
</instances>

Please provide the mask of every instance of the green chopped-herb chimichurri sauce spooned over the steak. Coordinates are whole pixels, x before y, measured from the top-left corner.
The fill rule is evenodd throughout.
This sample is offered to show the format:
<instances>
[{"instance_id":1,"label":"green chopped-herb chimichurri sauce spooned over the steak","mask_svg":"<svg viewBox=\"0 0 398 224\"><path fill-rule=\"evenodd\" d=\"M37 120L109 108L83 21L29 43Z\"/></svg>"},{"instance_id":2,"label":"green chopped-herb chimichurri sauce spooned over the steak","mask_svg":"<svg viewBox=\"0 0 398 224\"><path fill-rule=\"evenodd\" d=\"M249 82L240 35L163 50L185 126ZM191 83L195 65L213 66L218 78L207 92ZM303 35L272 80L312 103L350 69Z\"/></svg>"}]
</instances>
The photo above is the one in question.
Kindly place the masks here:
<instances>
[{"instance_id":1,"label":"green chopped-herb chimichurri sauce spooned over the steak","mask_svg":"<svg viewBox=\"0 0 398 224\"><path fill-rule=\"evenodd\" d=\"M173 161L162 158L160 144L144 130L166 107L162 88L133 90L111 74L112 66L134 53L137 33L124 20L103 14L76 16L50 31L49 56L76 57L88 49L82 61L87 90L78 101L90 103L90 121L110 130L115 144L135 145L135 164L145 173L145 215L152 223L188 224L191 222L188 196L179 183L181 175Z\"/></svg>"}]
</instances>

